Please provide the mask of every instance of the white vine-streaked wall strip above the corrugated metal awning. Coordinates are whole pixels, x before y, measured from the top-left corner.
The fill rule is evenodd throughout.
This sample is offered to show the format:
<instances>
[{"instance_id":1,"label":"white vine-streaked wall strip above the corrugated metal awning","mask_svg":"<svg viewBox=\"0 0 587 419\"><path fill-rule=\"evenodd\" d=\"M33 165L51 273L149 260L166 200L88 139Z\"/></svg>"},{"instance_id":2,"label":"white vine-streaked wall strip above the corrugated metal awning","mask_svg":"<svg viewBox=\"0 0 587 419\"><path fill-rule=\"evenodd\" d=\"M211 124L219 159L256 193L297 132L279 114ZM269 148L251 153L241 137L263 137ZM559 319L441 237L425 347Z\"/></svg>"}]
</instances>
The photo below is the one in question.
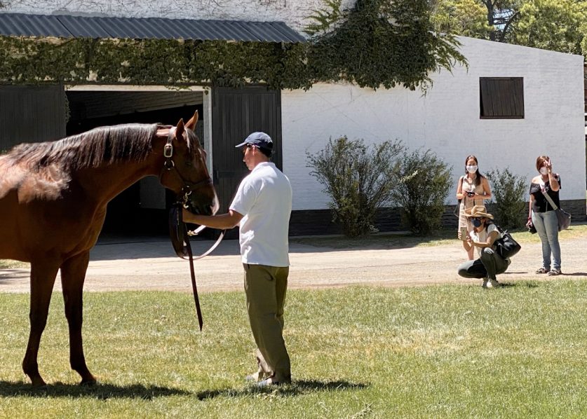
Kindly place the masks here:
<instances>
[{"instance_id":1,"label":"white vine-streaked wall strip above the corrugated metal awning","mask_svg":"<svg viewBox=\"0 0 587 419\"><path fill-rule=\"evenodd\" d=\"M355 0L343 0L343 7ZM106 15L125 18L218 19L285 22L298 32L322 0L5 0L6 12Z\"/></svg>"}]
</instances>

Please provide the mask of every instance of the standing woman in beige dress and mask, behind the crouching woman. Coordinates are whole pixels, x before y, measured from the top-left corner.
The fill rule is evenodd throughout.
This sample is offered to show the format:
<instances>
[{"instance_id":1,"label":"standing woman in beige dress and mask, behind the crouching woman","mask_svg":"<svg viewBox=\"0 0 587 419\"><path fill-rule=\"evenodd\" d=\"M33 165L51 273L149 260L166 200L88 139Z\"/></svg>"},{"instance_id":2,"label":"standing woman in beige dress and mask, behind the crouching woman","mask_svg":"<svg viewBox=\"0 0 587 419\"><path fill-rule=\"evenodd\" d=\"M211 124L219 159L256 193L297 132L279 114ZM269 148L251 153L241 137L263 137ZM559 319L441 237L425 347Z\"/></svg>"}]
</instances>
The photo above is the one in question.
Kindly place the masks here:
<instances>
[{"instance_id":1,"label":"standing woman in beige dress and mask, behind the crouching woman","mask_svg":"<svg viewBox=\"0 0 587 419\"><path fill-rule=\"evenodd\" d=\"M487 178L480 174L477 158L467 156L465 159L465 174L459 178L457 186L457 199L459 205L459 239L461 238L461 228L467 229L467 234L473 231L471 220L466 217L465 209L472 208L475 205L484 205L483 200L491 198L491 188ZM467 252L468 260L473 260L474 249L463 242L463 247Z\"/></svg>"}]
</instances>

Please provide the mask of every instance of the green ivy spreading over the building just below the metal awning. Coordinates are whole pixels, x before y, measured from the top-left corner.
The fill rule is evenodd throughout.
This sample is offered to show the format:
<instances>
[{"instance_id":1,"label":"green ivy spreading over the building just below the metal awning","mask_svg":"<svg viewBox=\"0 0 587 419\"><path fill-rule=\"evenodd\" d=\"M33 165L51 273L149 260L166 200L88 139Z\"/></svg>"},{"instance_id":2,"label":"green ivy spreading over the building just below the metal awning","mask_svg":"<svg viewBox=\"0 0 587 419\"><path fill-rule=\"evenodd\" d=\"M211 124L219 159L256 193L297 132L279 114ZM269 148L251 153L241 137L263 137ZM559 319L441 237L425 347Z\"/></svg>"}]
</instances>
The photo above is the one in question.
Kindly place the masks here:
<instances>
[{"instance_id":1,"label":"green ivy spreading over the building just below the metal awning","mask_svg":"<svg viewBox=\"0 0 587 419\"><path fill-rule=\"evenodd\" d=\"M414 89L426 88L432 71L466 63L454 39L431 32L427 0L358 0L345 12L339 0L327 5L336 13L316 12L307 43L1 36L0 81Z\"/></svg>"}]
</instances>

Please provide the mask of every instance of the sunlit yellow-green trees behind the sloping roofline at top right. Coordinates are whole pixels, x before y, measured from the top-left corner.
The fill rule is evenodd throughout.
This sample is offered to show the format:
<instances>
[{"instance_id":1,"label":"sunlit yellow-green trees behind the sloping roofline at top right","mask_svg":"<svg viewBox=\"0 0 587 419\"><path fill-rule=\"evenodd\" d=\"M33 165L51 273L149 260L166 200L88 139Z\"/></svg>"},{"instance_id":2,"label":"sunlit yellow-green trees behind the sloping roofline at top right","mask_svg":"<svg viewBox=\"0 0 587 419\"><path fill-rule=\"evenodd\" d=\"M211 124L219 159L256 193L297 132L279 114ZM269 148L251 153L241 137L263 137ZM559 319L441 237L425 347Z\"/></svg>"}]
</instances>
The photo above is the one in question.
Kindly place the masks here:
<instances>
[{"instance_id":1,"label":"sunlit yellow-green trees behind the sloping roofline at top right","mask_svg":"<svg viewBox=\"0 0 587 419\"><path fill-rule=\"evenodd\" d=\"M431 0L436 30L587 56L587 0ZM484 24L480 25L485 14Z\"/></svg>"}]
</instances>

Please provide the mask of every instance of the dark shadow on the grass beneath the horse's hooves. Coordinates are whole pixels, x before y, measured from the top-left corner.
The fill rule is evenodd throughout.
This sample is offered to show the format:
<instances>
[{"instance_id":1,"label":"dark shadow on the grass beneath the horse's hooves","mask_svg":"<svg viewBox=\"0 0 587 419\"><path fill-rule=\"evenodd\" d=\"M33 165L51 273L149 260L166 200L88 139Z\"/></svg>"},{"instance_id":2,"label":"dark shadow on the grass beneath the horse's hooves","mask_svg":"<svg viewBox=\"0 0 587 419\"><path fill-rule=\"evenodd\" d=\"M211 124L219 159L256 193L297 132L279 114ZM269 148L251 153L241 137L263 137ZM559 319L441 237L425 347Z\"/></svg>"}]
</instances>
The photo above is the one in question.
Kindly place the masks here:
<instances>
[{"instance_id":1,"label":"dark shadow on the grass beneath the horse's hooves","mask_svg":"<svg viewBox=\"0 0 587 419\"><path fill-rule=\"evenodd\" d=\"M192 394L184 390L169 387L145 386L142 384L114 385L100 384L79 385L53 383L43 387L33 387L24 381L10 382L0 380L0 397L93 397L99 400L107 399L144 399L155 397L186 396Z\"/></svg>"}]
</instances>

